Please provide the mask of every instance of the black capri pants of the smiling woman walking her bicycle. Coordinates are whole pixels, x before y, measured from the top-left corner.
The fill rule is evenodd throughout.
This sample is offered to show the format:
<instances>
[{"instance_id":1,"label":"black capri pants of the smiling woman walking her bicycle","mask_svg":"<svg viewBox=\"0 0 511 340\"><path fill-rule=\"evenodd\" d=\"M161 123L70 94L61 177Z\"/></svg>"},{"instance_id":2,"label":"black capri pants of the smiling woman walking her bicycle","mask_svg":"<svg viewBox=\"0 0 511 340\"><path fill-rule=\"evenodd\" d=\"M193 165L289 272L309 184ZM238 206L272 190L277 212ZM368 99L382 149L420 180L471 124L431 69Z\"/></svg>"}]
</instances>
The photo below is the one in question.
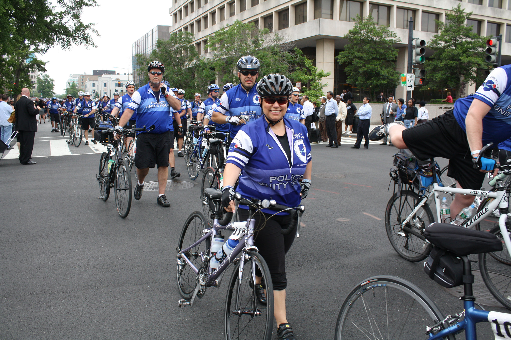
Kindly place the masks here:
<instances>
[{"instance_id":1,"label":"black capri pants of the smiling woman walking her bicycle","mask_svg":"<svg viewBox=\"0 0 511 340\"><path fill-rule=\"evenodd\" d=\"M238 210L240 220L244 221L248 218L248 210ZM264 214L265 218L270 214ZM261 213L256 213L255 228L258 230L264 219ZM261 230L255 231L254 246L258 247L259 253L263 256L271 273L271 281L273 282L273 290L282 291L287 287L286 277L286 253L293 244L296 232L289 235L283 235L282 229L287 229L291 223L291 215L273 216L266 221L266 225ZM259 226L259 228L258 228ZM255 275L262 276L258 270Z\"/></svg>"}]
</instances>

